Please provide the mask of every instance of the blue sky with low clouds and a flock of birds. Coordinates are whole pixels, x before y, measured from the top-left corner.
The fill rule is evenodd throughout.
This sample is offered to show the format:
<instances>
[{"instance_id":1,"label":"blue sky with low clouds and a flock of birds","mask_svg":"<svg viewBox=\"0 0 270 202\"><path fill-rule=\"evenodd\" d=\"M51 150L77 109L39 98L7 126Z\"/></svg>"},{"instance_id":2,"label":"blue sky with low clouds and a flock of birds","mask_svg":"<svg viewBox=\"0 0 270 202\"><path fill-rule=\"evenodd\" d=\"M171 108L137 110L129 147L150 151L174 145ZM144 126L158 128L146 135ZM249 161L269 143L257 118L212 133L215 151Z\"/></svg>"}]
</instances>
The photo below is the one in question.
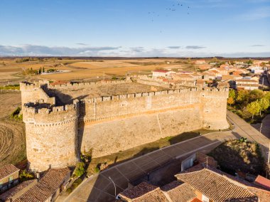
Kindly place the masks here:
<instances>
[{"instance_id":1,"label":"blue sky with low clouds and a flock of birds","mask_svg":"<svg viewBox=\"0 0 270 202\"><path fill-rule=\"evenodd\" d=\"M0 0L0 8L0 55L270 56L270 0Z\"/></svg>"}]
</instances>

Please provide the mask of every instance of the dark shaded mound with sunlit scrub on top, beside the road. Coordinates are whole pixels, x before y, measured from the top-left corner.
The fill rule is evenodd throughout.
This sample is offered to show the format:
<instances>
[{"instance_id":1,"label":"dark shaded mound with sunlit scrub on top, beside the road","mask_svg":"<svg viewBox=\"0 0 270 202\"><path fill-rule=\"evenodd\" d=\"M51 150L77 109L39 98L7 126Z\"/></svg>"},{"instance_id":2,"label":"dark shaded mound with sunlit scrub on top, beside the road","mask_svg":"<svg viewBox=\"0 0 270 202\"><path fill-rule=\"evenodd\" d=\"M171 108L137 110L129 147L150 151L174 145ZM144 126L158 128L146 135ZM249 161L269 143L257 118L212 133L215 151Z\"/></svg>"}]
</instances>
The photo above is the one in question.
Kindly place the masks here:
<instances>
[{"instance_id":1,"label":"dark shaded mound with sunlit scrub on top, beside the road","mask_svg":"<svg viewBox=\"0 0 270 202\"><path fill-rule=\"evenodd\" d=\"M222 171L235 174L237 171L264 175L264 157L257 142L237 139L222 143L209 154L217 160Z\"/></svg>"}]
</instances>

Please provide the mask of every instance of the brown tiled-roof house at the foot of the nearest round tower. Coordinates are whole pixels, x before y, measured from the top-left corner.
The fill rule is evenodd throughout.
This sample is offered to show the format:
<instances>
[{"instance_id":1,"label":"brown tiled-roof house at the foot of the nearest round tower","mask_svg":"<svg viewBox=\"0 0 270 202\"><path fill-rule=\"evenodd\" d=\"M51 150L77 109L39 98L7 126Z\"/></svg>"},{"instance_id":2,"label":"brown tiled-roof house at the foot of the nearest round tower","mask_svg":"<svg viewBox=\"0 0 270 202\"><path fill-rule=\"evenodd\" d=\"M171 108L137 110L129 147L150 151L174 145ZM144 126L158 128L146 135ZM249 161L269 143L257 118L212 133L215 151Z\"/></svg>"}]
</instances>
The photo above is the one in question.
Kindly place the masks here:
<instances>
[{"instance_id":1,"label":"brown tiled-roof house at the foot of the nearest round tower","mask_svg":"<svg viewBox=\"0 0 270 202\"><path fill-rule=\"evenodd\" d=\"M2 201L9 202L50 202L65 190L70 179L70 169L49 169L41 179L24 181L0 195Z\"/></svg>"}]
</instances>

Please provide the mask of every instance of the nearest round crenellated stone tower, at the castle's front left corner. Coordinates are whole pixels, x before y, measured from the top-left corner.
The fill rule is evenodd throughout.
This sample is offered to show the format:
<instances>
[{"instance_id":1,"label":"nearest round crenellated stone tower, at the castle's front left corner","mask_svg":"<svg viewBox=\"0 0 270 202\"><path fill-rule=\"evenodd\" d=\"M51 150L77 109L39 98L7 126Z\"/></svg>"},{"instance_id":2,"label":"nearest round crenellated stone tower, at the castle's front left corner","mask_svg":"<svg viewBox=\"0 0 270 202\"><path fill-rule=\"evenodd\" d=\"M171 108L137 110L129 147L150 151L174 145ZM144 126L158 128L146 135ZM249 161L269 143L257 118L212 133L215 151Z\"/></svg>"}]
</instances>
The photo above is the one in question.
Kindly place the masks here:
<instances>
[{"instance_id":1,"label":"nearest round crenellated stone tower, at the castle's front left corner","mask_svg":"<svg viewBox=\"0 0 270 202\"><path fill-rule=\"evenodd\" d=\"M41 106L40 106L41 107ZM48 108L23 107L26 123L26 154L29 168L45 171L75 165L77 149L77 118L79 102Z\"/></svg>"}]
</instances>

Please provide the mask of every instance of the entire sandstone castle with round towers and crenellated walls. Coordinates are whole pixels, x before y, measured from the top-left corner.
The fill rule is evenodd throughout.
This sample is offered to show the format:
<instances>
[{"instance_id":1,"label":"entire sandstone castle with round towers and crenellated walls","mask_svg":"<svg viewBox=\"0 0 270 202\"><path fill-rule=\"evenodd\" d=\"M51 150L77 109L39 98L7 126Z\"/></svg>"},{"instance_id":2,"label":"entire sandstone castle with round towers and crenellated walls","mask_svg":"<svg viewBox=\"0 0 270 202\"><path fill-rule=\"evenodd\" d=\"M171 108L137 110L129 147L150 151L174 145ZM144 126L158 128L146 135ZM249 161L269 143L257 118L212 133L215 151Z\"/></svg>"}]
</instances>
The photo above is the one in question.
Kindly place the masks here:
<instances>
[{"instance_id":1,"label":"entire sandstone castle with round towers and crenellated walls","mask_svg":"<svg viewBox=\"0 0 270 202\"><path fill-rule=\"evenodd\" d=\"M50 85L20 83L30 169L75 165L93 157L205 127L227 129L227 89L184 88L89 96L131 80Z\"/></svg>"}]
</instances>

